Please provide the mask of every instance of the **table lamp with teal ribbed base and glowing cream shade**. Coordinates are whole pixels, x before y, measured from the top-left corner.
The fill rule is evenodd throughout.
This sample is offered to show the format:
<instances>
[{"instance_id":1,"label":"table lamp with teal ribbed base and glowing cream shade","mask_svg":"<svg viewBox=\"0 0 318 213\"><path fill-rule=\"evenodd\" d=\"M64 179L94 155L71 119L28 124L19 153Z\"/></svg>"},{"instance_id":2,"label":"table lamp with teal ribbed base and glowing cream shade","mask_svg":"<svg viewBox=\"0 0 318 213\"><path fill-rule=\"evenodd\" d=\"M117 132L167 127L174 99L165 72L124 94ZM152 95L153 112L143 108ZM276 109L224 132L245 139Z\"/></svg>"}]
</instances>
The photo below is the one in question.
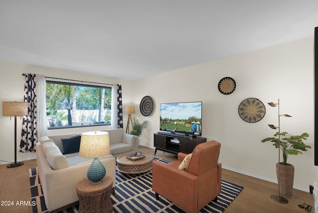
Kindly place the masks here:
<instances>
[{"instance_id":1,"label":"table lamp with teal ribbed base and glowing cream shade","mask_svg":"<svg viewBox=\"0 0 318 213\"><path fill-rule=\"evenodd\" d=\"M94 158L87 171L87 179L92 183L100 183L106 175L106 169L98 158L106 156L109 153L108 132L91 131L81 134L79 156L83 158Z\"/></svg>"}]
</instances>

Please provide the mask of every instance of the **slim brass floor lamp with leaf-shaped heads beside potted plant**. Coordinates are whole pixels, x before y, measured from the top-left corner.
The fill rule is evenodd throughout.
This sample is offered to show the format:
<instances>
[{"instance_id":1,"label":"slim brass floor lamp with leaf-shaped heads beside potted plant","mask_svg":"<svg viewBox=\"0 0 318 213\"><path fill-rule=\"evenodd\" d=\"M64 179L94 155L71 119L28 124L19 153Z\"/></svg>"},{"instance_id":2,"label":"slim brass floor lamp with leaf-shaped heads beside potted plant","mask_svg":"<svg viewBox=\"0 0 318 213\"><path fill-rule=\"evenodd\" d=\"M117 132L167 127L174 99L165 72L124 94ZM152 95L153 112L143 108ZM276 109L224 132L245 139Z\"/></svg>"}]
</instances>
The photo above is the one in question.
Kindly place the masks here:
<instances>
[{"instance_id":1,"label":"slim brass floor lamp with leaf-shaped heads beside potted plant","mask_svg":"<svg viewBox=\"0 0 318 213\"><path fill-rule=\"evenodd\" d=\"M288 204L288 200L286 198L283 198L280 196L280 187L279 187L279 182L280 182L280 116L283 117L291 117L288 114L280 114L279 113L279 99L278 99L278 104L274 104L273 102L268 103L269 106L278 106L278 127L274 126L273 124L268 124L268 126L272 129L277 129L278 128L278 195L271 195L270 198L274 200L275 202L278 202L280 204Z\"/></svg>"}]
</instances>

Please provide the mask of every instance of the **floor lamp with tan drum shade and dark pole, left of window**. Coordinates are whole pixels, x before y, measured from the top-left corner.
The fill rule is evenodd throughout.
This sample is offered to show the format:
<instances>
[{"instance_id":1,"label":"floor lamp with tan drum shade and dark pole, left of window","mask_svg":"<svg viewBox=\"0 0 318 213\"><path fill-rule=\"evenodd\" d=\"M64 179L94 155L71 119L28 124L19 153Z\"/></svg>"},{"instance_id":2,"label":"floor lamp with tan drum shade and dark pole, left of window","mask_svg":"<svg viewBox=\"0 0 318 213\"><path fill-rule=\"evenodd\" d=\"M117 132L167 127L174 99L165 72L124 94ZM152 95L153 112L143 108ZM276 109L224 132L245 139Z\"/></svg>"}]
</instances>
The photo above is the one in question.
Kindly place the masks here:
<instances>
[{"instance_id":1,"label":"floor lamp with tan drum shade and dark pole, left of window","mask_svg":"<svg viewBox=\"0 0 318 213\"><path fill-rule=\"evenodd\" d=\"M22 166L23 162L16 162L16 116L23 116L28 114L27 102L2 102L2 115L14 116L14 163L7 165L6 167L12 168Z\"/></svg>"}]
</instances>

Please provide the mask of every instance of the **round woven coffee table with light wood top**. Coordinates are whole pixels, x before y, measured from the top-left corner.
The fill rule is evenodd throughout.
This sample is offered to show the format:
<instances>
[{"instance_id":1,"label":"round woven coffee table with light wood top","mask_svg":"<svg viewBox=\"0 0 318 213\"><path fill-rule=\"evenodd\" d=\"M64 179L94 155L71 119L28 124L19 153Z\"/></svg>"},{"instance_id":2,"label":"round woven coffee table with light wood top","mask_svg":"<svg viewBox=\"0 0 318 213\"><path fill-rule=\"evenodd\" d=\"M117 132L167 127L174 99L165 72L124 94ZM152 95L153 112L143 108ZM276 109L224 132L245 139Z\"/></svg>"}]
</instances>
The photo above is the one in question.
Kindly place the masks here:
<instances>
[{"instance_id":1,"label":"round woven coffee table with light wood top","mask_svg":"<svg viewBox=\"0 0 318 213\"><path fill-rule=\"evenodd\" d=\"M146 156L145 158L138 160L130 160L126 157L126 155L130 154L134 153L124 154L117 157L117 170L119 172L128 174L138 174L142 172L147 172L153 168L153 156L146 153L142 153L141 155Z\"/></svg>"}]
</instances>

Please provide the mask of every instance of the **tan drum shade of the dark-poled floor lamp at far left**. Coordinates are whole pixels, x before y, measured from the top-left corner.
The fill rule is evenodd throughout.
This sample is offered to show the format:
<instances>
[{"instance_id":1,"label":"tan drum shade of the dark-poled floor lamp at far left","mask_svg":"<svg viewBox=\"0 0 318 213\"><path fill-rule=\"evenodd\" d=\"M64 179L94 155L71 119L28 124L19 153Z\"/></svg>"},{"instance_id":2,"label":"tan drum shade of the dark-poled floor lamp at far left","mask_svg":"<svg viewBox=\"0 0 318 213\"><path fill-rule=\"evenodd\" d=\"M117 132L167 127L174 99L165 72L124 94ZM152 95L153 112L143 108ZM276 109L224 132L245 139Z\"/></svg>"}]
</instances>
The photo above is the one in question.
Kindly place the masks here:
<instances>
[{"instance_id":1,"label":"tan drum shade of the dark-poled floor lamp at far left","mask_svg":"<svg viewBox=\"0 0 318 213\"><path fill-rule=\"evenodd\" d=\"M2 102L3 116L23 116L28 114L27 102Z\"/></svg>"}]
</instances>

